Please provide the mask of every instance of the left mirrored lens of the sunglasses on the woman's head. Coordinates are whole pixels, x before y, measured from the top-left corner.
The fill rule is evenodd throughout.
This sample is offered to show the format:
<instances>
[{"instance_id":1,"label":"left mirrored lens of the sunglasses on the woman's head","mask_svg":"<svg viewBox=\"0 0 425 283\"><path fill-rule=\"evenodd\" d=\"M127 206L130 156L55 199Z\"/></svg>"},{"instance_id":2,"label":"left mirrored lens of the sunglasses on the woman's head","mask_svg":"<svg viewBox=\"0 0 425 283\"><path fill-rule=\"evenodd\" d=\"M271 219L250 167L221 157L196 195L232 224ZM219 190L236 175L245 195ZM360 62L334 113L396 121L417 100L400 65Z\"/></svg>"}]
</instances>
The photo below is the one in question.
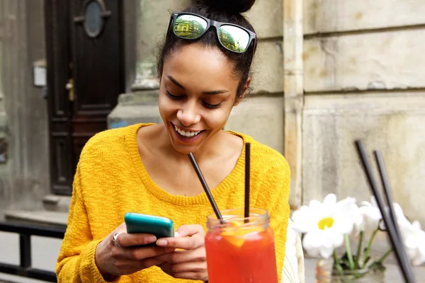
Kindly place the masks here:
<instances>
[{"instance_id":1,"label":"left mirrored lens of the sunglasses on the woman's head","mask_svg":"<svg viewBox=\"0 0 425 283\"><path fill-rule=\"evenodd\" d=\"M183 38L194 39L200 37L207 28L207 21L193 15L181 15L174 23L174 33Z\"/></svg>"}]
</instances>

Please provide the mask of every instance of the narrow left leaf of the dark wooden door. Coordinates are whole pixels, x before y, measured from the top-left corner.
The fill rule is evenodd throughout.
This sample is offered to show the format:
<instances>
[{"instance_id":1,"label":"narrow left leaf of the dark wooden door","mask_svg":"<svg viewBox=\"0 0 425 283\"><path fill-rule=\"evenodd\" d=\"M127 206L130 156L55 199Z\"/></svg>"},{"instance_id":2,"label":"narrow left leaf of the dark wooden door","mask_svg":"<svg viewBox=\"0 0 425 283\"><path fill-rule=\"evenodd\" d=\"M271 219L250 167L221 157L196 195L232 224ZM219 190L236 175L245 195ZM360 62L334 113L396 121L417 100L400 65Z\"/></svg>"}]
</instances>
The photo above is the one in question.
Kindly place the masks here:
<instances>
[{"instance_id":1,"label":"narrow left leaf of the dark wooden door","mask_svg":"<svg viewBox=\"0 0 425 283\"><path fill-rule=\"evenodd\" d=\"M69 194L72 185L70 105L65 85L70 76L68 8L57 1L45 2L47 89L50 127L50 183L57 194Z\"/></svg>"}]
</instances>

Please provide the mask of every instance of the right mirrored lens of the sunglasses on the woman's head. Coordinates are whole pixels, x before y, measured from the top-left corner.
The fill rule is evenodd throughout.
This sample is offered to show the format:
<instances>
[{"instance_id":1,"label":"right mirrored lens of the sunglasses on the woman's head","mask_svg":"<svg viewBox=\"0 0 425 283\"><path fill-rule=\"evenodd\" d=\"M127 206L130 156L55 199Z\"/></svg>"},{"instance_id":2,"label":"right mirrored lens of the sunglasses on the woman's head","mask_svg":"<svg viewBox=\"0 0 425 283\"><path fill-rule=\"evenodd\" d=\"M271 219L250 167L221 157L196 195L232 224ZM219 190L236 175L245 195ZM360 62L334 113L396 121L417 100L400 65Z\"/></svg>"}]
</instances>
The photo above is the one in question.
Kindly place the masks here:
<instances>
[{"instance_id":1,"label":"right mirrored lens of the sunglasses on the woman's head","mask_svg":"<svg viewBox=\"0 0 425 283\"><path fill-rule=\"evenodd\" d=\"M218 29L221 44L228 50L244 52L248 48L249 33L234 25L222 25Z\"/></svg>"}]
</instances>

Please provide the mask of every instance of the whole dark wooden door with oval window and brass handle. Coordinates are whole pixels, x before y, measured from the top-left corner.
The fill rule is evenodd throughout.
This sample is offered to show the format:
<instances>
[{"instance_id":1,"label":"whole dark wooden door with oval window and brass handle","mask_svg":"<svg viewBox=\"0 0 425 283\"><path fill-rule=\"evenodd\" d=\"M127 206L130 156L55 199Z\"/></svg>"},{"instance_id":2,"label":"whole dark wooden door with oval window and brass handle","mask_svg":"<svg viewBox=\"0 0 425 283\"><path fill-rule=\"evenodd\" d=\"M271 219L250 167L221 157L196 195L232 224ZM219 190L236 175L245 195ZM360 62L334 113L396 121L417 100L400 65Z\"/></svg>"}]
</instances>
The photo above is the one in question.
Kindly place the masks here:
<instances>
[{"instance_id":1,"label":"whole dark wooden door with oval window and brass handle","mask_svg":"<svg viewBox=\"0 0 425 283\"><path fill-rule=\"evenodd\" d=\"M124 91L120 0L46 0L52 192L72 193L86 141L106 129Z\"/></svg>"}]
</instances>

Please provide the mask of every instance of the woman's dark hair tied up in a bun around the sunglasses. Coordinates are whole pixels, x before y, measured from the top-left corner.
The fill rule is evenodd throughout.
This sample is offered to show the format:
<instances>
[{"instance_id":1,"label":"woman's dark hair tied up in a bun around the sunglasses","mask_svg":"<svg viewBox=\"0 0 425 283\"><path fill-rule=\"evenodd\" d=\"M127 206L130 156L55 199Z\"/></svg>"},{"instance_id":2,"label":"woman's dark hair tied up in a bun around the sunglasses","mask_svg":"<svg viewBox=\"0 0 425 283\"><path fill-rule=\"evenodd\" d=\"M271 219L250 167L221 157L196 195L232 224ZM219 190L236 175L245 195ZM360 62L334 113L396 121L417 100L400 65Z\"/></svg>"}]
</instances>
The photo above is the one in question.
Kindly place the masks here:
<instances>
[{"instance_id":1,"label":"woman's dark hair tied up in a bun around the sunglasses","mask_svg":"<svg viewBox=\"0 0 425 283\"><path fill-rule=\"evenodd\" d=\"M241 13L248 11L256 0L192 0L192 3L183 12L196 13L210 20L233 23L235 25L241 25L255 33L252 25L246 20ZM164 59L178 50L184 45L190 45L197 43L207 47L219 47L220 50L227 56L227 58L234 62L234 73L241 77L239 86L237 88L237 96L242 96L242 89L246 80L249 77L249 70L251 69L252 59L256 50L257 41L253 40L251 45L244 53L236 53L226 50L217 38L216 31L211 28L205 35L200 37L198 40L184 40L176 37L174 33L168 30L165 42L159 50L158 59L158 74L162 76L164 69Z\"/></svg>"}]
</instances>

